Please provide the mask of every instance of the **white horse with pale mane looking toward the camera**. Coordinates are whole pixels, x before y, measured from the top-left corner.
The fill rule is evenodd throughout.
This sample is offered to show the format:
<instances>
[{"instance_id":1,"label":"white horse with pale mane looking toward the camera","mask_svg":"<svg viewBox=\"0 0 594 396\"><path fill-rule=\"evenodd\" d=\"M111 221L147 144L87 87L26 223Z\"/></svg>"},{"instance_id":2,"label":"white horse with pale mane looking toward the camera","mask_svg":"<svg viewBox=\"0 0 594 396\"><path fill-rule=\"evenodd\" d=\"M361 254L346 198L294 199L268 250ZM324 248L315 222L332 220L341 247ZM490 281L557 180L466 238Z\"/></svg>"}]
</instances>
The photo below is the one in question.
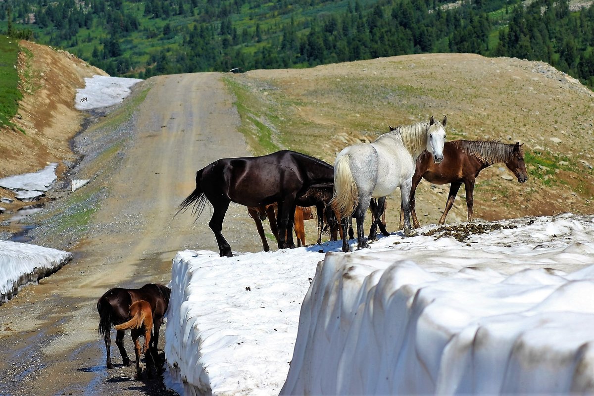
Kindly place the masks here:
<instances>
[{"instance_id":1,"label":"white horse with pale mane looking toward the camera","mask_svg":"<svg viewBox=\"0 0 594 396\"><path fill-rule=\"evenodd\" d=\"M368 248L363 230L365 212L371 198L378 198L369 239L375 239L378 218L384 211L386 196L400 187L405 211L405 235L413 235L410 227L410 188L416 159L423 150L433 155L436 164L443 160L445 122L418 122L403 125L378 137L372 143L344 148L334 161L334 208L342 218L342 251L348 252L347 227L351 216L357 221L358 249Z\"/></svg>"}]
</instances>

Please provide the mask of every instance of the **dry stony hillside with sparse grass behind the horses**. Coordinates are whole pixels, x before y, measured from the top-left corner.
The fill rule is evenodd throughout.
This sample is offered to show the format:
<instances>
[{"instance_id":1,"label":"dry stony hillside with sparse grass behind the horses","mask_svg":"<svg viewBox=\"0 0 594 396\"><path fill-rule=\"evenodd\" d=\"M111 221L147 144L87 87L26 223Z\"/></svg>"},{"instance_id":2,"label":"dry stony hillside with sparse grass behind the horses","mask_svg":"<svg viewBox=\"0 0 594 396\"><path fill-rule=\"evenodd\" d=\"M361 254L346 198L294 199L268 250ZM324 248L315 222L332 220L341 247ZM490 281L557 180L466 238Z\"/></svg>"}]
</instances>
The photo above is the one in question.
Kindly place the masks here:
<instances>
[{"instance_id":1,"label":"dry stony hillside with sparse grass behind the horses","mask_svg":"<svg viewBox=\"0 0 594 396\"><path fill-rule=\"evenodd\" d=\"M475 216L592 213L594 94L541 62L409 55L249 71L226 80L254 154L290 148L333 163L346 145L372 141L388 125L447 115L447 140L519 141L526 150L526 183L517 182L503 164L481 172ZM260 145L261 140L274 145ZM448 185L421 182L422 224L437 222L447 192ZM388 199L388 229L397 227L399 199L399 191ZM466 220L464 189L447 219L456 220Z\"/></svg>"}]
</instances>

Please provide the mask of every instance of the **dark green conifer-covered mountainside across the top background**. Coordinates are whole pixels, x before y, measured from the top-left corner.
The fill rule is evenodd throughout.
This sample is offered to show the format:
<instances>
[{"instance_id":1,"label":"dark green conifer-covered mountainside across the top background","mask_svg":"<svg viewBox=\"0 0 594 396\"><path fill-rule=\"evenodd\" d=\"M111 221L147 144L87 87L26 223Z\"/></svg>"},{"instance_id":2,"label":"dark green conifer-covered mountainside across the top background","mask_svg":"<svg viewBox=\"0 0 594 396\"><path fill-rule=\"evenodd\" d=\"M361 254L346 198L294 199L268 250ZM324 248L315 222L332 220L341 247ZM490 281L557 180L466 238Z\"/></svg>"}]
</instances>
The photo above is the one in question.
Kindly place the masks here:
<instances>
[{"instance_id":1,"label":"dark green conifer-covered mountainside across the top background","mask_svg":"<svg viewBox=\"0 0 594 396\"><path fill-rule=\"evenodd\" d=\"M548 62L594 87L594 6L528 3L5 0L0 30L125 77L472 52Z\"/></svg>"}]
</instances>

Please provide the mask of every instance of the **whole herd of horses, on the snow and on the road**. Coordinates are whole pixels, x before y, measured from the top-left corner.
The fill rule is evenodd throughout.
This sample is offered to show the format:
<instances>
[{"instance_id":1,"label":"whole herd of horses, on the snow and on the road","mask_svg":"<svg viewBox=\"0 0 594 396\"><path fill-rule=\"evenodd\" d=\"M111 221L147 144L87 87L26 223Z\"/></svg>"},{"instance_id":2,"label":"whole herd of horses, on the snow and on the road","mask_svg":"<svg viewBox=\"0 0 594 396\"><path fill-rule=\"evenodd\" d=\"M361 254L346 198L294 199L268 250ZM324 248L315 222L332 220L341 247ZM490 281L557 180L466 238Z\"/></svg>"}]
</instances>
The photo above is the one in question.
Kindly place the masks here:
<instances>
[{"instance_id":1,"label":"whole herd of horses, on the snow and on the road","mask_svg":"<svg viewBox=\"0 0 594 396\"><path fill-rule=\"evenodd\" d=\"M222 234L222 224L230 202L248 207L258 227L263 248L269 250L261 220L270 218L279 249L295 248L293 224L302 223L302 207L315 207L318 238L324 218L331 238L342 238L342 251L349 252L350 219L355 218L358 249L368 247L364 237L365 213L372 213L368 239L375 239L377 226L389 235L384 222L386 197L400 188L400 226L406 236L419 227L415 212L415 190L421 179L434 184L450 183L450 193L438 224L444 224L456 194L465 184L467 220L473 220L473 189L482 169L503 162L520 183L527 172L522 145L499 141L457 140L445 142L447 118L391 128L374 142L350 145L337 155L334 166L296 151L277 151L260 157L220 159L196 173L196 188L179 205L180 211L192 208L199 217L206 202L213 211L208 226L213 230L219 255L231 257L229 243ZM297 217L295 217L297 216ZM301 216L301 217L300 217ZM276 220L274 220L276 218ZM412 218L412 224L410 222ZM298 233L298 244L305 239ZM110 289L97 302L99 333L105 338L108 369L110 326L116 325L116 345L125 365L130 365L124 349L124 331L132 330L137 357L136 376L141 374L140 353L146 354L147 368L154 362L159 342L159 327L168 307L170 290L163 285L147 284L140 289ZM146 301L146 303L137 303ZM144 308L144 309L143 309ZM149 309L150 308L150 309ZM151 335L152 328L152 337ZM138 336L145 336L141 348ZM150 340L150 341L149 341ZM149 354L152 354L149 358ZM147 369L150 375L150 370Z\"/></svg>"}]
</instances>

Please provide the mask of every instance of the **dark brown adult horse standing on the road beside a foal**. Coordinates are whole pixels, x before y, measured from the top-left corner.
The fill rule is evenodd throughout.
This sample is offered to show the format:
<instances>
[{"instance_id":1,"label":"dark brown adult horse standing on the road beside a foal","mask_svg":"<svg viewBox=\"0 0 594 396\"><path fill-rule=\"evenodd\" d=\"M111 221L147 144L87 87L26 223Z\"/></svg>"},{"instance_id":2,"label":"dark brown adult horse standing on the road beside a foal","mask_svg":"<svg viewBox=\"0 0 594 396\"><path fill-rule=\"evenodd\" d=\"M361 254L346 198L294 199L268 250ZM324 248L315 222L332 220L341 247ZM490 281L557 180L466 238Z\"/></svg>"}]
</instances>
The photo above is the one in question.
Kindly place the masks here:
<instances>
[{"instance_id":1,"label":"dark brown adult horse standing on the road beside a foal","mask_svg":"<svg viewBox=\"0 0 594 396\"><path fill-rule=\"evenodd\" d=\"M145 300L151 306L153 315L153 337L150 346L153 356L157 356L159 345L159 329L163 323L163 316L167 312L171 289L158 283L147 283L140 289L122 289L114 287L109 289L97 301L97 312L99 312L99 334L105 339L107 349L107 368L113 369L111 361L111 325L119 325L127 322L130 316L132 303ZM122 363L130 365L130 358L124 349L124 330L116 330L115 344L122 355Z\"/></svg>"}]
</instances>

